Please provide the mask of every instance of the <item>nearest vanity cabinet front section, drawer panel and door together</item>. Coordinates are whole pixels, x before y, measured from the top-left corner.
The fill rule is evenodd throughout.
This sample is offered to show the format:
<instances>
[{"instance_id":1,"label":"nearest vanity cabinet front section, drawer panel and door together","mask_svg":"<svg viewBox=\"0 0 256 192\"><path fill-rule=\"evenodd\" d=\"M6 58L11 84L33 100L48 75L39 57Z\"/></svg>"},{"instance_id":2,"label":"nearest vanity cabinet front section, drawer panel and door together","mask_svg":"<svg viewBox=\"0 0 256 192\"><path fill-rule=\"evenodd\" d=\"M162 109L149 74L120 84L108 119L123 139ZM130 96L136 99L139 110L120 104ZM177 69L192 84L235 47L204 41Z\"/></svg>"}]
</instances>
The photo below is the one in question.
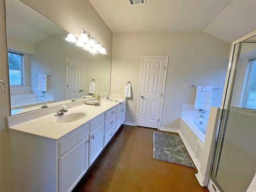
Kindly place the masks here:
<instances>
[{"instance_id":1,"label":"nearest vanity cabinet front section, drawer panel and door together","mask_svg":"<svg viewBox=\"0 0 256 192\"><path fill-rule=\"evenodd\" d=\"M58 142L59 191L71 191L88 169L89 125Z\"/></svg>"}]
</instances>

